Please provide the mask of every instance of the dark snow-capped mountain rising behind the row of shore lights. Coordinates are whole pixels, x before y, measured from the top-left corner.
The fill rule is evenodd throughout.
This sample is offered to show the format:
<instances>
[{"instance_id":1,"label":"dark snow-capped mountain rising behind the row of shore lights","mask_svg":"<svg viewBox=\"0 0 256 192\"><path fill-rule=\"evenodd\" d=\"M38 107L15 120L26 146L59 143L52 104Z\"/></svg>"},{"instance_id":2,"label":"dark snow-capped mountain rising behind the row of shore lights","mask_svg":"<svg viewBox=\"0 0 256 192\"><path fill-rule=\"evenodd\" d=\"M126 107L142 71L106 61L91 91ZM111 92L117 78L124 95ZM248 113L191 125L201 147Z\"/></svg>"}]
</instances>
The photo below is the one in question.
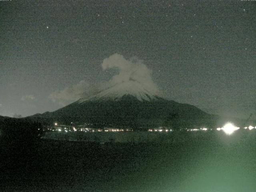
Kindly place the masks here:
<instances>
[{"instance_id":1,"label":"dark snow-capped mountain rising behind the row of shore lights","mask_svg":"<svg viewBox=\"0 0 256 192\"><path fill-rule=\"evenodd\" d=\"M28 118L48 124L75 122L95 126L187 128L212 127L216 116L189 104L161 98L142 84L128 81L90 98L81 98L54 112L35 114Z\"/></svg>"}]
</instances>

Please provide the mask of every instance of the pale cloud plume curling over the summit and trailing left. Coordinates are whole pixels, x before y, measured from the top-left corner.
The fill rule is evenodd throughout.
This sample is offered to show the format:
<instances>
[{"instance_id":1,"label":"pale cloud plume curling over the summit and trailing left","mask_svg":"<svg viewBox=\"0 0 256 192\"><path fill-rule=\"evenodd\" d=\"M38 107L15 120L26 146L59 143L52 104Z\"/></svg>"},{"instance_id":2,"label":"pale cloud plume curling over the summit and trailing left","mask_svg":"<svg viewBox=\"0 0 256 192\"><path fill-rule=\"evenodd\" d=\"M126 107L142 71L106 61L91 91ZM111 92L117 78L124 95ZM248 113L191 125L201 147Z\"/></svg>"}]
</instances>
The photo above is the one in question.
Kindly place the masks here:
<instances>
[{"instance_id":1,"label":"pale cloud plume curling over the summit and trailing left","mask_svg":"<svg viewBox=\"0 0 256 192\"><path fill-rule=\"evenodd\" d=\"M89 98L90 96L105 90L117 84L136 81L152 94L158 94L159 90L151 78L151 70L143 63L142 60L131 58L126 60L120 54L113 54L102 62L102 69L117 68L117 75L114 75L108 82L87 82L80 81L78 84L56 90L50 94L49 99L57 102L61 106L74 102L80 98Z\"/></svg>"}]
</instances>

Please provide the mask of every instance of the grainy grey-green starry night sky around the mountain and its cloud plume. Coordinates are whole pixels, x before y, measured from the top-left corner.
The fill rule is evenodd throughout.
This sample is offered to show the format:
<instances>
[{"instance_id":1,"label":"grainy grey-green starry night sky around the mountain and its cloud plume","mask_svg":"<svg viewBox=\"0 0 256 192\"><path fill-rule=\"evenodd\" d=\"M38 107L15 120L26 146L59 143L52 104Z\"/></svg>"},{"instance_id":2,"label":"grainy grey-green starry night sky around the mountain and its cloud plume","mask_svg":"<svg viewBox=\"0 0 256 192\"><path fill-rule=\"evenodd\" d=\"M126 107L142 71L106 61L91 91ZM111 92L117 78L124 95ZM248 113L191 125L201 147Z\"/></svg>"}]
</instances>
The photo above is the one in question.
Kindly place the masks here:
<instances>
[{"instance_id":1,"label":"grainy grey-green starry night sky around the mountain and its cloud plume","mask_svg":"<svg viewBox=\"0 0 256 192\"><path fill-rule=\"evenodd\" d=\"M54 111L118 73L151 70L161 96L256 119L256 1L0 1L0 115Z\"/></svg>"}]
</instances>

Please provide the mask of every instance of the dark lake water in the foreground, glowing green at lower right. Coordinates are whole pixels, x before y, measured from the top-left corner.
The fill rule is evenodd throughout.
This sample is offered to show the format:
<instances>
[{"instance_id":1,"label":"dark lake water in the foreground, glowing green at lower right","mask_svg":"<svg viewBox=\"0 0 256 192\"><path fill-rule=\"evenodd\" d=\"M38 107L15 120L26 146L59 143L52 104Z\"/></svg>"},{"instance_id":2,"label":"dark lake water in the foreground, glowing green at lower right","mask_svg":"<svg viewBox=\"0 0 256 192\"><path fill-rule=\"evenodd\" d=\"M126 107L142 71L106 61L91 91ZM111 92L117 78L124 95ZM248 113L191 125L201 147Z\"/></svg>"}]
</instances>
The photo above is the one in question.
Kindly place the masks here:
<instances>
[{"instance_id":1,"label":"dark lake water in the foreground, glowing green at lower right","mask_svg":"<svg viewBox=\"0 0 256 192\"><path fill-rule=\"evenodd\" d=\"M168 134L178 142L2 147L0 191L256 191L256 131Z\"/></svg>"}]
</instances>

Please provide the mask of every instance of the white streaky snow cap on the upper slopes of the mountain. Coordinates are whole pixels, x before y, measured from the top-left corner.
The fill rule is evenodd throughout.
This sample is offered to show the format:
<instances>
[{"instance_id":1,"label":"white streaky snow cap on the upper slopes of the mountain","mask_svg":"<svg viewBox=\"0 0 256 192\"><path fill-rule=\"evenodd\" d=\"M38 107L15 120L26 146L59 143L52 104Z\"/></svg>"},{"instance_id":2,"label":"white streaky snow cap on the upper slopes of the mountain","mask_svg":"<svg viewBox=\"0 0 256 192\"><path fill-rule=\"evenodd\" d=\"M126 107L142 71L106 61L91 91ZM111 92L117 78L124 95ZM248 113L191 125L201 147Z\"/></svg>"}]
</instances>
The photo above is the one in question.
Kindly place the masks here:
<instances>
[{"instance_id":1,"label":"white streaky snow cap on the upper slopes of the mountain","mask_svg":"<svg viewBox=\"0 0 256 192\"><path fill-rule=\"evenodd\" d=\"M131 95L137 98L139 101L150 101L150 100L158 100L159 97L156 94L146 90L140 83L136 81L128 81L122 84L118 84L109 88L108 90L104 90L95 96L92 96L88 99L82 98L78 100L78 103L83 103L87 101L106 101L120 100L125 95Z\"/></svg>"}]
</instances>

